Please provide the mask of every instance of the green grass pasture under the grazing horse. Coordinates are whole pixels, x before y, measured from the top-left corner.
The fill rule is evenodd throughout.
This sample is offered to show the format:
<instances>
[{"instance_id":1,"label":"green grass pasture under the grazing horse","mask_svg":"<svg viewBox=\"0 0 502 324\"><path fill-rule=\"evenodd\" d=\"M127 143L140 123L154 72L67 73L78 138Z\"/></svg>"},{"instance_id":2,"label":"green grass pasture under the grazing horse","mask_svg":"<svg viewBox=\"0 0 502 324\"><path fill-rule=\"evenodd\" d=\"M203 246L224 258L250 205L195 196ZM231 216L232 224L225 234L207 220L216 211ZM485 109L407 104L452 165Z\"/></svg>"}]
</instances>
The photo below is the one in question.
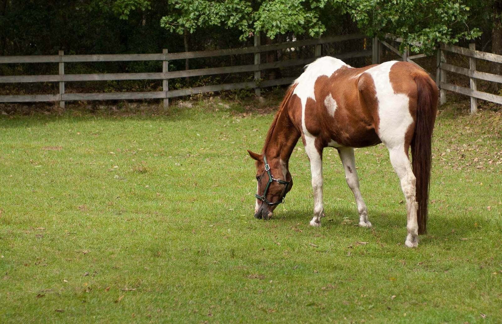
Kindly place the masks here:
<instances>
[{"instance_id":1,"label":"green grass pasture under the grazing horse","mask_svg":"<svg viewBox=\"0 0 502 324\"><path fill-rule=\"evenodd\" d=\"M308 225L301 141L286 203L255 219L245 149L273 112L253 109L2 116L0 321L502 322L500 112L442 107L429 233L410 249L382 145L355 153L372 229L353 226L333 149L326 217Z\"/></svg>"}]
</instances>

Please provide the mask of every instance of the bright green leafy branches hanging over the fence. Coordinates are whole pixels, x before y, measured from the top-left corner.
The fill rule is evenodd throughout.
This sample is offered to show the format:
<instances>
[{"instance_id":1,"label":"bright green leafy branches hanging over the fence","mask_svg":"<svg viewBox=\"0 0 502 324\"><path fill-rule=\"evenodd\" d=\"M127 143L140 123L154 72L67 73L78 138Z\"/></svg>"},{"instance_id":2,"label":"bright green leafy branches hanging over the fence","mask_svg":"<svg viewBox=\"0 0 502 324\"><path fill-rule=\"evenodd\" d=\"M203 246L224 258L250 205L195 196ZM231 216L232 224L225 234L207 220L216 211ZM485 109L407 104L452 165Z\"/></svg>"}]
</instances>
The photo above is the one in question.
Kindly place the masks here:
<instances>
[{"instance_id":1,"label":"bright green leafy branches hanging over the fence","mask_svg":"<svg viewBox=\"0 0 502 324\"><path fill-rule=\"evenodd\" d=\"M145 0L143 0L145 1ZM117 0L122 5L140 0ZM264 32L269 38L286 33L320 37L339 30L348 15L369 36L394 34L402 49L431 52L438 43L457 43L480 36L469 28L470 9L461 0L169 0L173 11L161 26L171 32L224 25L238 29L241 40ZM126 8L127 6L122 6Z\"/></svg>"}]
</instances>

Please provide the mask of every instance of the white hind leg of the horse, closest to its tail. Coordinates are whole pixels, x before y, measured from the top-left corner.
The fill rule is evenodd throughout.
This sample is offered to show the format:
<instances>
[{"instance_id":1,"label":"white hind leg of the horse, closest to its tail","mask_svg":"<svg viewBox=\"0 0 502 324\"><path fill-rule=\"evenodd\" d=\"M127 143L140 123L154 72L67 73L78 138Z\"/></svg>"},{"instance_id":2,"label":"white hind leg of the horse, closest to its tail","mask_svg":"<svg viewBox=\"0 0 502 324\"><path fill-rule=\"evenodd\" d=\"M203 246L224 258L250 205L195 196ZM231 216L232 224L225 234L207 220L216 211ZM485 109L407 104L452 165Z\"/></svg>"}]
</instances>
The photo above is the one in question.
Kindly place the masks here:
<instances>
[{"instance_id":1,"label":"white hind leg of the horse, closest to its tail","mask_svg":"<svg viewBox=\"0 0 502 324\"><path fill-rule=\"evenodd\" d=\"M417 223L417 199L416 199L416 182L417 179L413 174L410 159L406 152L408 147L388 147L391 163L394 170L401 180L401 189L406 197L406 210L408 216L408 236L406 236L405 245L408 247L417 247L418 245L418 223Z\"/></svg>"}]
</instances>

